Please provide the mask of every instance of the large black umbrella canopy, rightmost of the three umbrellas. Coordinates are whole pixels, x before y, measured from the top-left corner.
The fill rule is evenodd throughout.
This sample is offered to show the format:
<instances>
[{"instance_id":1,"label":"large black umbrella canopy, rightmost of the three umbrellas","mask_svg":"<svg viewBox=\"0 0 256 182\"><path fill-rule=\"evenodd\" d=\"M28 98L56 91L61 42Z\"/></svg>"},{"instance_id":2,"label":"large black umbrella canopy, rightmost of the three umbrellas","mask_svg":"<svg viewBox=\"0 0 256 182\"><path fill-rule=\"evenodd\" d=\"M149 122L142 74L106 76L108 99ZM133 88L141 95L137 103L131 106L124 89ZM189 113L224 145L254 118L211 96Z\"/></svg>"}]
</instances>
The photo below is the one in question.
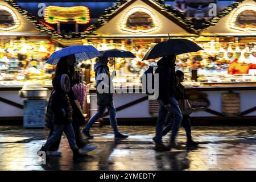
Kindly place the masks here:
<instances>
[{"instance_id":1,"label":"large black umbrella canopy, rightmost of the three umbrellas","mask_svg":"<svg viewBox=\"0 0 256 182\"><path fill-rule=\"evenodd\" d=\"M168 39L152 47L143 57L142 61L175 54L180 55L181 53L197 52L200 50L203 50L203 48L191 40Z\"/></svg>"}]
</instances>

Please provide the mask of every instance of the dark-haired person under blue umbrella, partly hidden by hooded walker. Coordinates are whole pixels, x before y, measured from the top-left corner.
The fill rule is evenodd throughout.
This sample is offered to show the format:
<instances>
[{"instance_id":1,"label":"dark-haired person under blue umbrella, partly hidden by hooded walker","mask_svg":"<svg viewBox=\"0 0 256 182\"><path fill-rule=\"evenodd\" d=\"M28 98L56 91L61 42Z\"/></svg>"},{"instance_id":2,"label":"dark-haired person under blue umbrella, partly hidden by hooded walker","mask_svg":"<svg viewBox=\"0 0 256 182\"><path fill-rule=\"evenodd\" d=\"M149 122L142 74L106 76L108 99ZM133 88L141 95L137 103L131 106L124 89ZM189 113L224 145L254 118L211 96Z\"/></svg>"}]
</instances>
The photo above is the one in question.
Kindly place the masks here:
<instances>
[{"instance_id":1,"label":"dark-haired person under blue umbrella, partly hidden by hooded walker","mask_svg":"<svg viewBox=\"0 0 256 182\"><path fill-rule=\"evenodd\" d=\"M56 65L55 75L58 76L58 75L62 75L62 74L68 75L69 80L71 82L71 88L73 85L78 84L80 82L79 74L75 71L75 55L61 57L61 59L59 60L59 62ZM70 89L69 92L67 92L67 94L68 94L68 98L69 98L69 101L71 103L72 110L73 110L72 126L73 126L73 130L75 132L77 147L79 147L81 149L82 154L85 154L86 152L94 150L97 146L91 146L84 139L82 139L82 136L80 133L80 121L85 122L85 118L75 103L76 96L73 93L72 89ZM51 104L51 96L49 99L48 106L50 104ZM51 117L51 109L48 109L48 107L47 107L47 113L46 113L46 120L48 120L47 123L49 123L49 120L51 119L50 117ZM49 125L50 124L48 124L48 126ZM51 129L51 127L49 127L49 128ZM49 133L49 136L51 136L51 135L52 135L52 130ZM47 151L48 155L61 155L61 152L58 151L58 148L60 145L60 140L61 140L61 138L59 138L58 140L56 140L56 142L54 142L52 144L52 146L49 148L49 151Z\"/></svg>"}]
</instances>

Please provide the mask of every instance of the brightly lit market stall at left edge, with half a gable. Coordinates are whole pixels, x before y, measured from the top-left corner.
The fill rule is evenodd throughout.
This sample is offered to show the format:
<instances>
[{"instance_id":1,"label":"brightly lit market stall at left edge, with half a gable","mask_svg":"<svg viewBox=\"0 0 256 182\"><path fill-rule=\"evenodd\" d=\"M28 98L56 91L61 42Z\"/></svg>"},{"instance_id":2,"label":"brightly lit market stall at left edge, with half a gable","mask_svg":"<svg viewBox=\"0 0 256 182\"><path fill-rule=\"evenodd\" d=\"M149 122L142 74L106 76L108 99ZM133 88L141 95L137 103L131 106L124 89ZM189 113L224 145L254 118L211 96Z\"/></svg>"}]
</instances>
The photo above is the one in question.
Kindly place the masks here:
<instances>
[{"instance_id":1,"label":"brightly lit market stall at left edge, with half a gable","mask_svg":"<svg viewBox=\"0 0 256 182\"><path fill-rule=\"evenodd\" d=\"M23 116L19 90L31 82L51 87L54 71L45 63L55 51L51 36L39 31L33 18L21 13L0 1L0 120L4 121Z\"/></svg>"}]
</instances>

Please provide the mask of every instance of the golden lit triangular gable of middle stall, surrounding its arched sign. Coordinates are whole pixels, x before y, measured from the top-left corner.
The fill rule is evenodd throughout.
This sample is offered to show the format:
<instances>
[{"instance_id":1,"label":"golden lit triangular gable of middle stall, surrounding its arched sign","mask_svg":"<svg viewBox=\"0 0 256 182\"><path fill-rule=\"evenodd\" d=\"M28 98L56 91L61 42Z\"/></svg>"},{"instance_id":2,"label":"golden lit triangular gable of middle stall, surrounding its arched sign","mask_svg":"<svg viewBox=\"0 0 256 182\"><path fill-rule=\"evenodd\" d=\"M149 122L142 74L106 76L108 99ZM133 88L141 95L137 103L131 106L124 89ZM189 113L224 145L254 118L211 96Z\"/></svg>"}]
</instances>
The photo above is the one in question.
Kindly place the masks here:
<instances>
[{"instance_id":1,"label":"golden lit triangular gable of middle stall, surrounding its arched sign","mask_svg":"<svg viewBox=\"0 0 256 182\"><path fill-rule=\"evenodd\" d=\"M152 30L150 32L137 32L136 34L131 34L133 31L122 30L122 26L120 22L123 21L127 13L133 11L134 9L141 9L139 11L148 11L148 13L152 13L152 16L155 17L156 22L154 24L158 24L158 28ZM134 10L138 11L138 10ZM168 36L168 33L171 36L184 36L184 35L192 35L193 30L187 26L187 24L177 18L175 14L168 12L164 9L159 3L150 0L131 0L125 1L121 6L117 7L117 9L112 10L112 14L108 16L102 16L98 23L94 25L89 31L93 31L98 36L103 37L119 37L119 38L139 38L139 37L159 37L159 36ZM151 16L151 18L152 18ZM128 18L128 17L127 17ZM154 19L154 18L153 18ZM107 23L106 23L107 22Z\"/></svg>"}]
</instances>

